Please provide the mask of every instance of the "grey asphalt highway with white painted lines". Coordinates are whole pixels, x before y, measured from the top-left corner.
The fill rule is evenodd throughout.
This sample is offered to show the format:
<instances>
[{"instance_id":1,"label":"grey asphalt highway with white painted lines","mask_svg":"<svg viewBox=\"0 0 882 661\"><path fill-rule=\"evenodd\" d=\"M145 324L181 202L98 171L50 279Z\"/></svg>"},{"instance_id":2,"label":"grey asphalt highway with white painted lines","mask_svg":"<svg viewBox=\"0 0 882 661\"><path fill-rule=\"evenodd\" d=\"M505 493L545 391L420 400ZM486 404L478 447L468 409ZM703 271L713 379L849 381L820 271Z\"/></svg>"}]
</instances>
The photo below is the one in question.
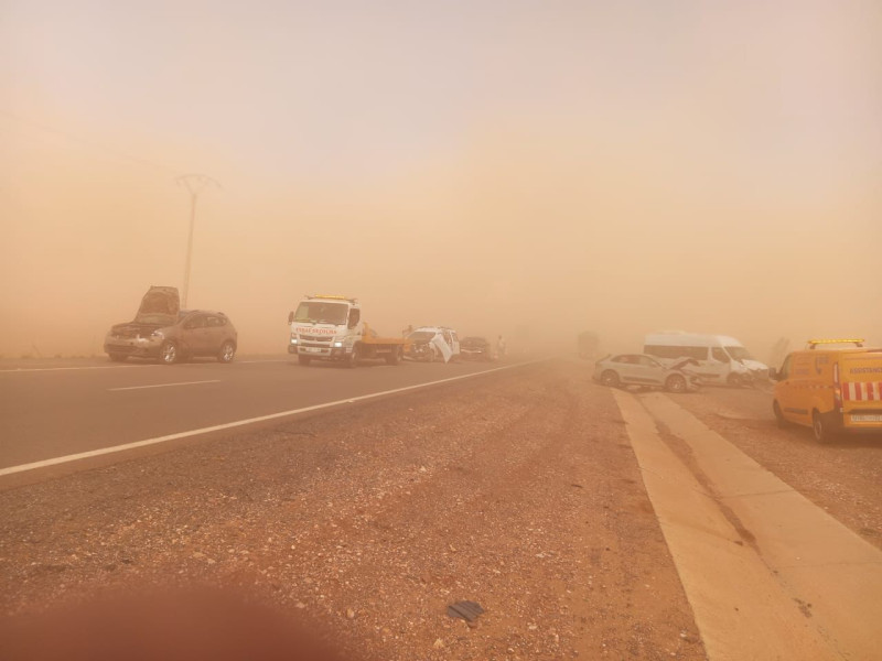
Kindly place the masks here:
<instances>
[{"instance_id":1,"label":"grey asphalt highway with white painted lines","mask_svg":"<svg viewBox=\"0 0 882 661\"><path fill-rule=\"evenodd\" d=\"M288 356L229 365L116 365L104 359L7 364L0 366L0 477L73 464L84 453L122 457L125 452L118 451L128 448L120 446L241 429L303 409L334 402L345 407L516 365L369 361L345 369L333 364L302 367Z\"/></svg>"}]
</instances>

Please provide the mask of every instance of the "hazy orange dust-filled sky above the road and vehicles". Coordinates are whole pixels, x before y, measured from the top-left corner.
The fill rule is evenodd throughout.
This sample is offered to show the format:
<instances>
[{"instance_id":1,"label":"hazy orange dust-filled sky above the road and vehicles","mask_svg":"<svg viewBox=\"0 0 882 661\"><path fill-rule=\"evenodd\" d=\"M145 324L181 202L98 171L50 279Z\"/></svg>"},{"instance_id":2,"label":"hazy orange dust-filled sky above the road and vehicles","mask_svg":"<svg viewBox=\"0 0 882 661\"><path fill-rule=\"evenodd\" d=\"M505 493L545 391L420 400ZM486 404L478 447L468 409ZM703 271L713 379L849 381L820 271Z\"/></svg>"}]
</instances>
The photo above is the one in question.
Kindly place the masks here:
<instances>
[{"instance_id":1,"label":"hazy orange dust-filled sky above the road and vehicles","mask_svg":"<svg viewBox=\"0 0 882 661\"><path fill-rule=\"evenodd\" d=\"M636 349L882 343L874 2L8 1L0 354L100 353L150 284L280 351L304 293Z\"/></svg>"}]
</instances>

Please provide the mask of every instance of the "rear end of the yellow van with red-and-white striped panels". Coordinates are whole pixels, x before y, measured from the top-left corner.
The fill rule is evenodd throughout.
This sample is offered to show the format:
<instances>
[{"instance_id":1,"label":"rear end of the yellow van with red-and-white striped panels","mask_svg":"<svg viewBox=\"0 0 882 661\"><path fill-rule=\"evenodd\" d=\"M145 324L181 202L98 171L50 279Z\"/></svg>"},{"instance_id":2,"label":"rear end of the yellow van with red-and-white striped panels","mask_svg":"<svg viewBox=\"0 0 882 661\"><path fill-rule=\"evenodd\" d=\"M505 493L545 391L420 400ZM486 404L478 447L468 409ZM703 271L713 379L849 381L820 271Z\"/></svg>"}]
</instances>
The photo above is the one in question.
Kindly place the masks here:
<instances>
[{"instance_id":1,"label":"rear end of the yellow van with red-and-white striped panels","mask_svg":"<svg viewBox=\"0 0 882 661\"><path fill-rule=\"evenodd\" d=\"M843 351L839 380L845 425L882 430L882 349Z\"/></svg>"}]
</instances>

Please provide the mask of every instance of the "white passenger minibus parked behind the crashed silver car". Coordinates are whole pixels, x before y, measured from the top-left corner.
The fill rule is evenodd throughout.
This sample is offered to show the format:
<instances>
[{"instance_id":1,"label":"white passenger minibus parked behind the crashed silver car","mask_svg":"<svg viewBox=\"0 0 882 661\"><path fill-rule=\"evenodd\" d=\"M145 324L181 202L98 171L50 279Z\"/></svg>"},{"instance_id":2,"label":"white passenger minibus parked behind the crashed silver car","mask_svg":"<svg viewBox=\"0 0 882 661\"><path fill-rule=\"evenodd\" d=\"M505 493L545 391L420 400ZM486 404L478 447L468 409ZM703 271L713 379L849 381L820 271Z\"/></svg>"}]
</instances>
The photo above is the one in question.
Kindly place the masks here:
<instances>
[{"instance_id":1,"label":"white passenger minibus parked behind the crashed silver car","mask_svg":"<svg viewBox=\"0 0 882 661\"><path fill-rule=\"evenodd\" d=\"M768 378L768 366L754 360L734 337L695 333L656 333L644 338L644 354L656 358L695 358L706 383L743 386Z\"/></svg>"}]
</instances>

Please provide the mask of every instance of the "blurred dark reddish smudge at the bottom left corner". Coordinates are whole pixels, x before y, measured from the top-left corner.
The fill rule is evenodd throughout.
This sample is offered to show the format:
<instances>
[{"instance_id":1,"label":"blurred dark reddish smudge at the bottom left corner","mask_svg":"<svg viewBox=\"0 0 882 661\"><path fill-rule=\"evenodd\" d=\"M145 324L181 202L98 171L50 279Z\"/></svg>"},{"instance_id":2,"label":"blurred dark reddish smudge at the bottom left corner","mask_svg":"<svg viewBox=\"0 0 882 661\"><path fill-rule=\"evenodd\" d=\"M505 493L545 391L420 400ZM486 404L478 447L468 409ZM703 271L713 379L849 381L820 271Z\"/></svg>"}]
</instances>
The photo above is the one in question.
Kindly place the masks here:
<instances>
[{"instance_id":1,"label":"blurred dark reddish smudge at the bottom left corner","mask_svg":"<svg viewBox=\"0 0 882 661\"><path fill-rule=\"evenodd\" d=\"M207 588L130 592L0 625L6 661L364 660L327 638L249 595Z\"/></svg>"}]
</instances>

